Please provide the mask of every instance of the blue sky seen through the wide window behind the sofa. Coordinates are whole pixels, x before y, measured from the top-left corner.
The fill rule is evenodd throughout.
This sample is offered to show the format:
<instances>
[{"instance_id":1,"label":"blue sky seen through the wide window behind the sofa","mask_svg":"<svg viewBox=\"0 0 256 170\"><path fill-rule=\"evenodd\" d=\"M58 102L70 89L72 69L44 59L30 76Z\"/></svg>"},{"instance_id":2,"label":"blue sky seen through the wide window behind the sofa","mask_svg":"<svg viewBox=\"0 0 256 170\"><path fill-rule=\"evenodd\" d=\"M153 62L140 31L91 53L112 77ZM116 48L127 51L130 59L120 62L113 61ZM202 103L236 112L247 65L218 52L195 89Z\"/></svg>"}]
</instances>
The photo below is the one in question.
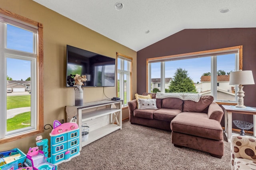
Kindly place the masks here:
<instances>
[{"instance_id":1,"label":"blue sky seen through the wide window behind the sofa","mask_svg":"<svg viewBox=\"0 0 256 170\"><path fill-rule=\"evenodd\" d=\"M211 57L183 59L165 62L165 77L173 78L177 68L188 71L188 76L196 83L200 82L203 73L211 72ZM235 69L235 54L217 56L217 70L227 72ZM160 63L152 63L151 78L160 78Z\"/></svg>"}]
</instances>

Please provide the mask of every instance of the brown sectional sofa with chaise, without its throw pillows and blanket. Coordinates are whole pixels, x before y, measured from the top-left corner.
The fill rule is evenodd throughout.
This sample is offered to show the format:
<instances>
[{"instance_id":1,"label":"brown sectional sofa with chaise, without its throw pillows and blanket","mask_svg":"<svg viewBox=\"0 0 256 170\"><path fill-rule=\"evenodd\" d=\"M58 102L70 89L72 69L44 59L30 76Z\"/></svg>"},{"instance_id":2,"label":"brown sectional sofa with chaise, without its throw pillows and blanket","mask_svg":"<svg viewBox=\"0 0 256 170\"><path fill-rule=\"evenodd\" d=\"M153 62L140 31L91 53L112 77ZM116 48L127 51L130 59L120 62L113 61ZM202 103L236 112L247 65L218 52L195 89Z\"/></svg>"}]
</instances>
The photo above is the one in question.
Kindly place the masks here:
<instances>
[{"instance_id":1,"label":"brown sectional sofa with chaise, without its throw pillows and blanket","mask_svg":"<svg viewBox=\"0 0 256 170\"><path fill-rule=\"evenodd\" d=\"M143 93L142 95L156 93ZM220 121L221 107L213 97L201 96L198 102L168 97L156 99L158 109L137 109L137 100L128 102L132 124L172 130L172 143L209 152L221 158L224 154L223 130Z\"/></svg>"}]
</instances>

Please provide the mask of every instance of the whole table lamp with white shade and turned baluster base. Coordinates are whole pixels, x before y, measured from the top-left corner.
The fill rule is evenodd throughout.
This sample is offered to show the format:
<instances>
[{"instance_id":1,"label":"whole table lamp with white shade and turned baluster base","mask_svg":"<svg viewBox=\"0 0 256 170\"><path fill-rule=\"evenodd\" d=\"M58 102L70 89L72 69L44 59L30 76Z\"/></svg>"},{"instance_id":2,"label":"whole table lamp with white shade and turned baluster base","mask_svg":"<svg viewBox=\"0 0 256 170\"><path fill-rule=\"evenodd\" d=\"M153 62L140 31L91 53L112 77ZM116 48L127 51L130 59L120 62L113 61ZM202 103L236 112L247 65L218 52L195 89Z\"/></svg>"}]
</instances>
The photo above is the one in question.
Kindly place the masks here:
<instances>
[{"instance_id":1,"label":"whole table lamp with white shade and turned baluster base","mask_svg":"<svg viewBox=\"0 0 256 170\"><path fill-rule=\"evenodd\" d=\"M246 108L244 106L244 91L242 85L254 85L254 79L251 70L239 70L230 72L229 85L238 85L237 108Z\"/></svg>"}]
</instances>

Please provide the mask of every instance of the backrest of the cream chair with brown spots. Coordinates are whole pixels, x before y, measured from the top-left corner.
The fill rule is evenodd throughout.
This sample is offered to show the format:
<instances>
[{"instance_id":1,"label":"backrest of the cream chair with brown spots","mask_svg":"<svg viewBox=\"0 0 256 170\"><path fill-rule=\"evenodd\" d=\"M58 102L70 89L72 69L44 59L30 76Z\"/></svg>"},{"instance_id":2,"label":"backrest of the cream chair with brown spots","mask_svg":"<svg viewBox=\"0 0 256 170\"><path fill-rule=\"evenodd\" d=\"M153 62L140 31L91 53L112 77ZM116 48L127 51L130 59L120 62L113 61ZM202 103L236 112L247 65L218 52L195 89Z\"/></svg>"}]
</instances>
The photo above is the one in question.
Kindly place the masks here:
<instances>
[{"instance_id":1,"label":"backrest of the cream chair with brown spots","mask_svg":"<svg viewBox=\"0 0 256 170\"><path fill-rule=\"evenodd\" d=\"M235 158L256 161L256 138L252 136L232 135L230 147L232 169L234 169Z\"/></svg>"}]
</instances>

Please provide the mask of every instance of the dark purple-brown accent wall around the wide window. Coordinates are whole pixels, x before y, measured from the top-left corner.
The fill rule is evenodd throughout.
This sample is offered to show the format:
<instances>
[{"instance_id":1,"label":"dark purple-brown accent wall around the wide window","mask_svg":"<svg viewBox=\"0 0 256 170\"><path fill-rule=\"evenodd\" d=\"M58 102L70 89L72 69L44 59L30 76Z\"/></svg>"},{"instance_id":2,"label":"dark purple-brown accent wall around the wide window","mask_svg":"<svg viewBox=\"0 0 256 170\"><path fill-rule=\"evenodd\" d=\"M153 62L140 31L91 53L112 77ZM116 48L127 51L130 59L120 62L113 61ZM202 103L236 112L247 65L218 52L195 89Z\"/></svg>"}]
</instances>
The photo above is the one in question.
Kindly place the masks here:
<instances>
[{"instance_id":1,"label":"dark purple-brown accent wall around the wide window","mask_svg":"<svg viewBox=\"0 0 256 170\"><path fill-rule=\"evenodd\" d=\"M256 28L187 29L137 52L137 93L146 92L146 59L243 45L243 70L252 70L256 83ZM256 107L256 85L244 86L244 105ZM244 121L244 115L241 119ZM236 115L233 114L236 118ZM252 123L252 115L245 116ZM223 124L223 123L222 123Z\"/></svg>"}]
</instances>

